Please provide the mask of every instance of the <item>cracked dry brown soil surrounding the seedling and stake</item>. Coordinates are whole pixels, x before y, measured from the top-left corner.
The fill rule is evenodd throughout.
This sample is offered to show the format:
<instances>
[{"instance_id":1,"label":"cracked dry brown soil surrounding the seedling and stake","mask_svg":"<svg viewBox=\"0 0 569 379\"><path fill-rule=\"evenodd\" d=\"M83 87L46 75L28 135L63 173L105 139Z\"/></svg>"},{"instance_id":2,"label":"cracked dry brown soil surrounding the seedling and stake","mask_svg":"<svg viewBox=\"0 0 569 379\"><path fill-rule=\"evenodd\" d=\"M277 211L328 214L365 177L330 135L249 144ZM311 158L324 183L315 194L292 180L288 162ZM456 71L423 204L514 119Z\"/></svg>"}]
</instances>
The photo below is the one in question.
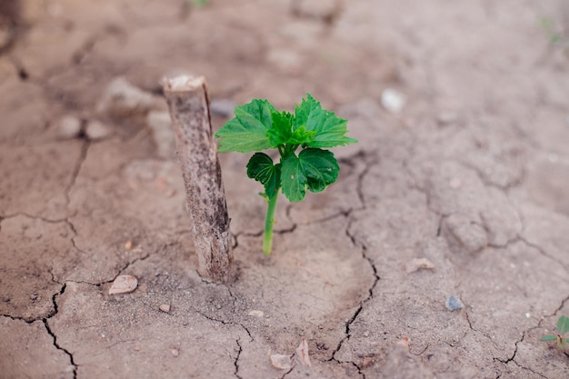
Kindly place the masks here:
<instances>
[{"instance_id":1,"label":"cracked dry brown soil surrounding the seedling and stake","mask_svg":"<svg viewBox=\"0 0 569 379\"><path fill-rule=\"evenodd\" d=\"M566 1L0 12L2 378L569 377L539 341L569 315ZM290 109L310 92L360 140L337 151L335 185L279 204L270 257L248 156L221 156L229 285L196 273L171 135L151 120L167 125L160 79L180 72L212 101ZM144 101L105 106L119 76ZM119 274L135 292L108 294ZM303 338L311 367L271 364Z\"/></svg>"}]
</instances>

